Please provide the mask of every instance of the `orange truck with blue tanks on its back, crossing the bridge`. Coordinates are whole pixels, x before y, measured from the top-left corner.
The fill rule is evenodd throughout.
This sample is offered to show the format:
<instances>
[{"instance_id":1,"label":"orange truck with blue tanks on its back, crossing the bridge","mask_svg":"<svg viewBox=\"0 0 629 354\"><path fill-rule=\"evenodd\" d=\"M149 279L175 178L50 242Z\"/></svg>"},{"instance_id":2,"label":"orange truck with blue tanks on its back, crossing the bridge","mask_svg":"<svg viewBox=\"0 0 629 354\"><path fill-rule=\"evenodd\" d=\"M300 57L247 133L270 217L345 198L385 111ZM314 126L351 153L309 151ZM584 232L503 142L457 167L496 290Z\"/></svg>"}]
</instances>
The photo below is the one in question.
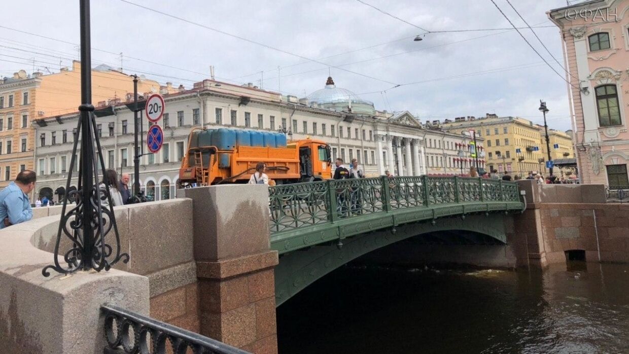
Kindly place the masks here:
<instances>
[{"instance_id":1,"label":"orange truck with blue tanks on its back, crossing the bridge","mask_svg":"<svg viewBox=\"0 0 629 354\"><path fill-rule=\"evenodd\" d=\"M330 179L331 149L324 141L286 141L282 133L195 128L179 169L180 187L247 183L255 165L267 165L276 184Z\"/></svg>"}]
</instances>

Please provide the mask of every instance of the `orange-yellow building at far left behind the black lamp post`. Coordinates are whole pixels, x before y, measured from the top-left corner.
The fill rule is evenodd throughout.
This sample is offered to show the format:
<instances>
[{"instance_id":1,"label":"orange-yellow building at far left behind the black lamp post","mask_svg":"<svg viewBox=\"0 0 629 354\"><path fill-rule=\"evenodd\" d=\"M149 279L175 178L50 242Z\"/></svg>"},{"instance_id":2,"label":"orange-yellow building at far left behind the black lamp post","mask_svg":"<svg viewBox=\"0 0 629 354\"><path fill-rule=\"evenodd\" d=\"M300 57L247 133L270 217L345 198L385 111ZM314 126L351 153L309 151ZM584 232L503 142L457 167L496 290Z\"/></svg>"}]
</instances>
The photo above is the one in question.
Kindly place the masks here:
<instances>
[{"instance_id":1,"label":"orange-yellow building at far left behind the black lamp post","mask_svg":"<svg viewBox=\"0 0 629 354\"><path fill-rule=\"evenodd\" d=\"M162 87L162 91L174 91ZM138 92L159 92L160 84L140 79ZM92 70L92 104L126 101L133 96L133 77L106 67ZM27 75L19 70L0 80L0 189L20 170L34 170L37 119L77 111L81 104L81 63L55 74ZM68 130L72 131L68 127ZM43 128L45 129L45 128ZM62 143L62 136L52 143Z\"/></svg>"}]
</instances>

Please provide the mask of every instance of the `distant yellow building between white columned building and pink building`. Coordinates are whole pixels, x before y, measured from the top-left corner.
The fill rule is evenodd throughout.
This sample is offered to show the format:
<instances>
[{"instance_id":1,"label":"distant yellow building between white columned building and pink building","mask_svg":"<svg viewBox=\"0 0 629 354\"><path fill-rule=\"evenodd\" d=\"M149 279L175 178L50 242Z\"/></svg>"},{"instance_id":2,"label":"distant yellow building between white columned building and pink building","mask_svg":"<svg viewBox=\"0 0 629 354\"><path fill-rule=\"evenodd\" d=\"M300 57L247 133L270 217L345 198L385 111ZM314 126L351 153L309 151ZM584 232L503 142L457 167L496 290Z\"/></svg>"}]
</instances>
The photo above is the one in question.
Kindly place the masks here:
<instances>
[{"instance_id":1,"label":"distant yellow building between white columned building and pink building","mask_svg":"<svg viewBox=\"0 0 629 354\"><path fill-rule=\"evenodd\" d=\"M548 157L543 127L540 129L532 121L487 114L484 118L461 117L454 121L447 120L442 128L457 134L474 130L477 136L482 136L485 140L487 170L498 170L501 174L520 175L523 178L530 171L547 174L545 162ZM569 135L549 129L548 136L553 160L574 156ZM559 144L559 148L554 149L555 143Z\"/></svg>"}]
</instances>

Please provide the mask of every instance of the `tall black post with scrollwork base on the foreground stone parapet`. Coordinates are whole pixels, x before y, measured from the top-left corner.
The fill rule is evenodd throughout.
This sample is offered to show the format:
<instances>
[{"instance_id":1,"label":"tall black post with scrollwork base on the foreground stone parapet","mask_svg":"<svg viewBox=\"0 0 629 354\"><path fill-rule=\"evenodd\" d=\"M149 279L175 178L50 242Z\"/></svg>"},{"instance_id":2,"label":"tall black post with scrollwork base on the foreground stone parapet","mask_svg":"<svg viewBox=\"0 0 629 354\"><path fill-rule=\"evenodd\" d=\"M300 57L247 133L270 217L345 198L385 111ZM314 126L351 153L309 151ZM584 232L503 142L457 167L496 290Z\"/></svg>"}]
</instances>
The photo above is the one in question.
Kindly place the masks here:
<instances>
[{"instance_id":1,"label":"tall black post with scrollwork base on the foreground stone parapet","mask_svg":"<svg viewBox=\"0 0 629 354\"><path fill-rule=\"evenodd\" d=\"M69 192L64 200L53 255L54 264L42 269L45 277L50 275L50 270L60 274L70 274L78 270L99 272L109 270L120 260L124 263L129 261L128 254L120 253L120 236L109 194L109 185L105 182L103 190L98 180L99 167L104 174L105 162L101 143L98 140L94 106L92 106L89 0L81 0L79 12L81 17L81 106L79 106L81 116L74 135L70 172L65 190L70 191L72 171L74 171L74 164L77 163L75 157L80 136L79 181L77 190ZM103 206L104 198L108 198L109 207ZM69 200L75 200L76 205L70 204L70 211L66 212ZM106 243L105 236L112 229L115 237L114 242L109 245ZM69 244L69 249L59 249L62 238L68 239L64 244Z\"/></svg>"}]
</instances>

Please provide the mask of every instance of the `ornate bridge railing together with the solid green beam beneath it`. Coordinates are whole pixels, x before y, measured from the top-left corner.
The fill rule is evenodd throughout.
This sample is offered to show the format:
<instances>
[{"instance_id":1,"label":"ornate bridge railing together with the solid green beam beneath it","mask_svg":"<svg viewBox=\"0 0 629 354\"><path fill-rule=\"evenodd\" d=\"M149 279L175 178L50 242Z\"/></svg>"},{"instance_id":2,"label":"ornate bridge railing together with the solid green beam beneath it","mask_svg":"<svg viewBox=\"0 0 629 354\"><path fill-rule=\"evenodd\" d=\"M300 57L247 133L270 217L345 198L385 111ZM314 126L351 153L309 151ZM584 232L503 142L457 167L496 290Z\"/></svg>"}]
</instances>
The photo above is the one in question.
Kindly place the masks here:
<instances>
[{"instance_id":1,"label":"ornate bridge railing together with the solid green beam beneath it","mask_svg":"<svg viewBox=\"0 0 629 354\"><path fill-rule=\"evenodd\" d=\"M464 207L456 207L461 204ZM277 185L269 187L271 243L281 252L290 252L398 223L457 213L515 211L522 205L515 182L471 177L423 175Z\"/></svg>"}]
</instances>

